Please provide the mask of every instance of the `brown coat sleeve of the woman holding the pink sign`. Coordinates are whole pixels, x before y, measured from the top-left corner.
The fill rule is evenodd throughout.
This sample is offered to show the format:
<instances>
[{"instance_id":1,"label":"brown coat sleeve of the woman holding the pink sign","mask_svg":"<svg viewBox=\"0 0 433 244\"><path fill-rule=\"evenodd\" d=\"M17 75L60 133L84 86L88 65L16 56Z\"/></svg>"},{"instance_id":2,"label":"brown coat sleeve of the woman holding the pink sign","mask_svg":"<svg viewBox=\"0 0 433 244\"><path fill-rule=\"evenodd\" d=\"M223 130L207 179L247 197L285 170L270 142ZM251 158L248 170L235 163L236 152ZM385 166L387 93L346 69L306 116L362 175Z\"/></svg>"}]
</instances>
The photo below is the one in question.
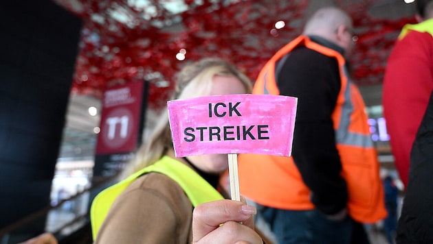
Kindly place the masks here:
<instances>
[{"instance_id":1,"label":"brown coat sleeve of the woman holding the pink sign","mask_svg":"<svg viewBox=\"0 0 433 244\"><path fill-rule=\"evenodd\" d=\"M177 182L148 173L115 199L95 243L191 243L192 210Z\"/></svg>"}]
</instances>

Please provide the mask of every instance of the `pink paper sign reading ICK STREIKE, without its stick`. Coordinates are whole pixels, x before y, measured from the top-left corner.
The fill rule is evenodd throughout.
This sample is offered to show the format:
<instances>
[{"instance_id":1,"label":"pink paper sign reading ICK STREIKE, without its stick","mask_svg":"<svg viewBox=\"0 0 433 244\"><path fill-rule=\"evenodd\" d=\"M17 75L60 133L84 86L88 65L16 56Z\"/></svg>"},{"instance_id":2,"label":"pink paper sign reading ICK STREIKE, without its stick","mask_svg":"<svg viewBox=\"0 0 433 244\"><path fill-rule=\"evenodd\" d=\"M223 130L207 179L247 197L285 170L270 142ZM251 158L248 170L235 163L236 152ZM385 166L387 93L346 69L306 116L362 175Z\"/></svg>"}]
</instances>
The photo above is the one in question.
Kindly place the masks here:
<instances>
[{"instance_id":1,"label":"pink paper sign reading ICK STREIKE, without its stick","mask_svg":"<svg viewBox=\"0 0 433 244\"><path fill-rule=\"evenodd\" d=\"M175 154L290 156L297 103L296 97L251 94L168 101Z\"/></svg>"}]
</instances>

